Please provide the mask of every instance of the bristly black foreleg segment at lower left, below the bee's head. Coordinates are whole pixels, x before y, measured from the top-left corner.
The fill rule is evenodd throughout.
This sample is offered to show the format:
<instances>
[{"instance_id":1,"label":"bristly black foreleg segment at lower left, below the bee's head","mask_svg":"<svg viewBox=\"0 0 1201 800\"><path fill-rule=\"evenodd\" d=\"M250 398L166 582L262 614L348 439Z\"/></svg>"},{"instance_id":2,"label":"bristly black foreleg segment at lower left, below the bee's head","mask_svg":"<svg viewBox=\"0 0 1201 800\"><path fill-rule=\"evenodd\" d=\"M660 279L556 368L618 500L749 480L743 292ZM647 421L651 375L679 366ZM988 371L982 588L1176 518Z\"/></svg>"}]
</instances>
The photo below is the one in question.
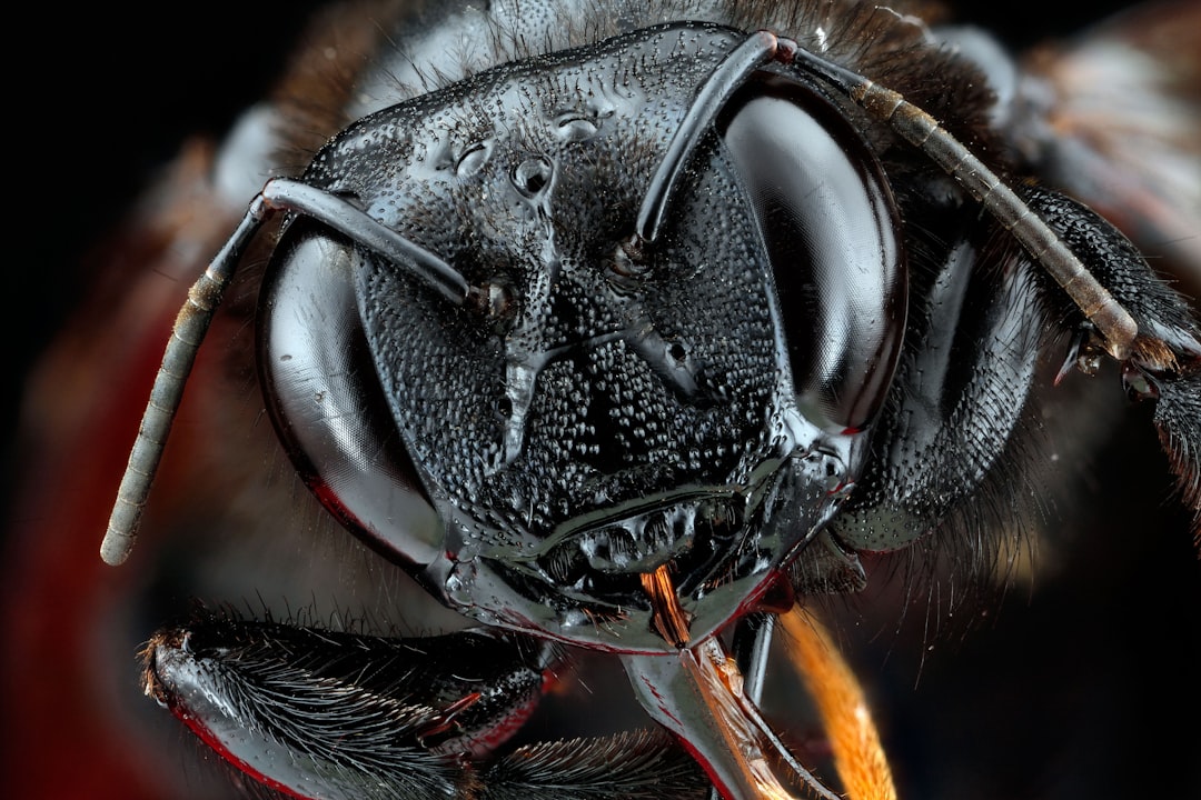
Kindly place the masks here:
<instances>
[{"instance_id":1,"label":"bristly black foreleg segment at lower left, below the bee's head","mask_svg":"<svg viewBox=\"0 0 1201 800\"><path fill-rule=\"evenodd\" d=\"M268 787L425 798L471 796L470 758L520 727L560 652L516 634L383 638L201 613L144 658L147 693Z\"/></svg>"}]
</instances>

